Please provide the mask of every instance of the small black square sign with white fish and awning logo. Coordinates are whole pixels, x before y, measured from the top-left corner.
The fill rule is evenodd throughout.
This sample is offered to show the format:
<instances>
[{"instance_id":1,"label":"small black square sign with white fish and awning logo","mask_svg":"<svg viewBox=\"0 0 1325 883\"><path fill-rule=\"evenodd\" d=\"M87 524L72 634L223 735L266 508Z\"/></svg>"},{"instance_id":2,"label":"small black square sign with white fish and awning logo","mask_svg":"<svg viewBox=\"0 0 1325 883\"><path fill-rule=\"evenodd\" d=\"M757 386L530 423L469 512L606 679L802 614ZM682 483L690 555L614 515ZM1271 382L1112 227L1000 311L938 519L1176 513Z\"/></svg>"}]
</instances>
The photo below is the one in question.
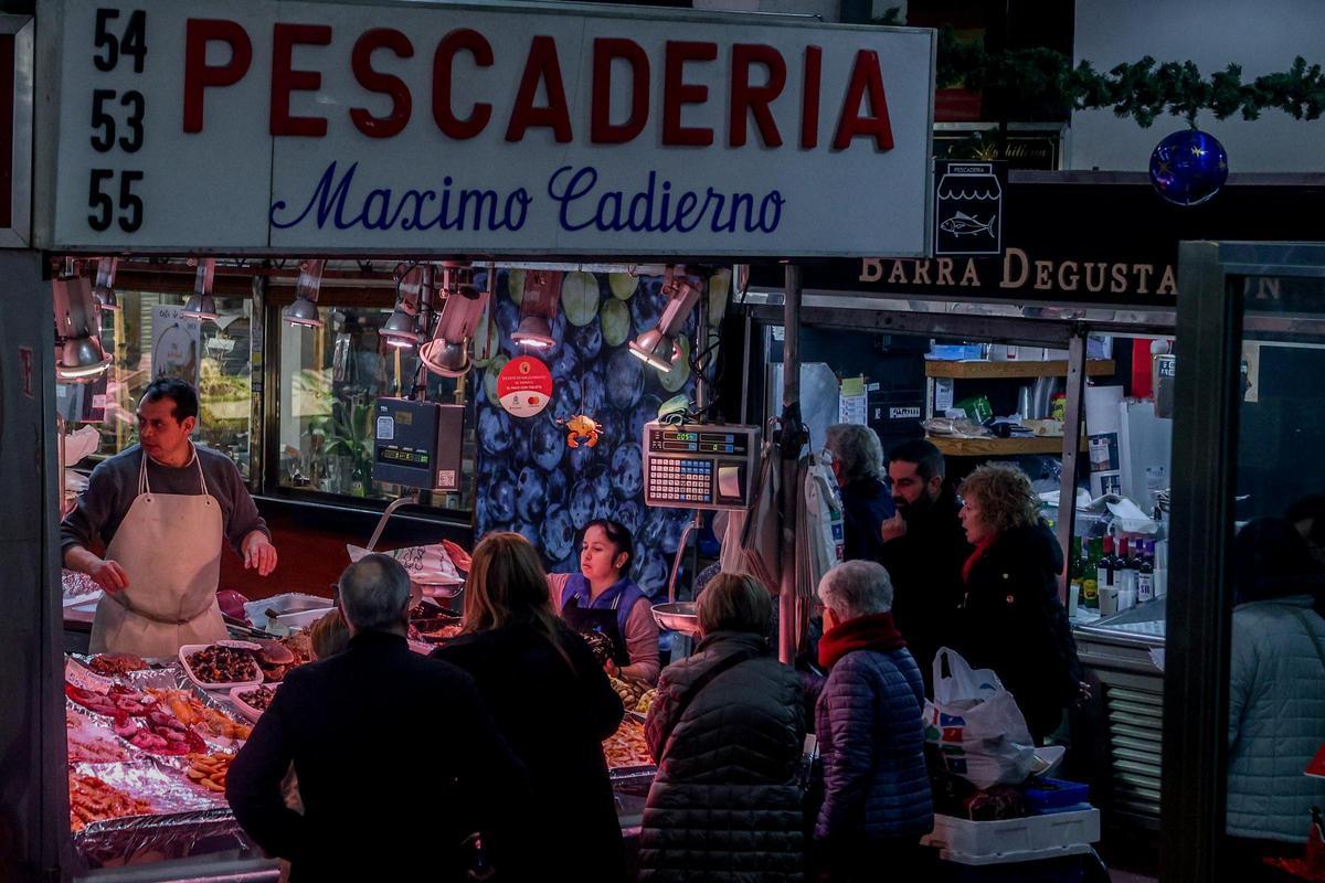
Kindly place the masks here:
<instances>
[{"instance_id":1,"label":"small black square sign with white fish and awning logo","mask_svg":"<svg viewBox=\"0 0 1325 883\"><path fill-rule=\"evenodd\" d=\"M1002 254L1007 163L934 160L934 254Z\"/></svg>"}]
</instances>

